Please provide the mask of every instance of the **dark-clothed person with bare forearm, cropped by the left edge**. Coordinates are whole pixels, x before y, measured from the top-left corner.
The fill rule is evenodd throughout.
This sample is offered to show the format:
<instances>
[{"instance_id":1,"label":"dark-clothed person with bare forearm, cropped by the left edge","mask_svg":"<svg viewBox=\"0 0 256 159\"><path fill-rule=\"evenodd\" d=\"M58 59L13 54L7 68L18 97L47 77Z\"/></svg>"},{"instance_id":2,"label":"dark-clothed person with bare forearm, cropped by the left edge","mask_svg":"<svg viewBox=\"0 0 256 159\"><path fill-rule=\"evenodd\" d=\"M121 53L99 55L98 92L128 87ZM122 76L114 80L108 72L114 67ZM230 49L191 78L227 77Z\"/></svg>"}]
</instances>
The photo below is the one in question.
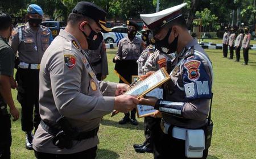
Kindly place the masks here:
<instances>
[{"instance_id":1,"label":"dark-clothed person with bare forearm, cropped by the left edge","mask_svg":"<svg viewBox=\"0 0 256 159\"><path fill-rule=\"evenodd\" d=\"M11 16L0 13L0 158L11 158L11 120L19 119L19 111L16 109L11 96L11 88L16 88L16 82L13 78L14 70L14 52L8 45L11 37L13 25L11 24ZM10 114L7 112L7 105L10 107Z\"/></svg>"}]
</instances>

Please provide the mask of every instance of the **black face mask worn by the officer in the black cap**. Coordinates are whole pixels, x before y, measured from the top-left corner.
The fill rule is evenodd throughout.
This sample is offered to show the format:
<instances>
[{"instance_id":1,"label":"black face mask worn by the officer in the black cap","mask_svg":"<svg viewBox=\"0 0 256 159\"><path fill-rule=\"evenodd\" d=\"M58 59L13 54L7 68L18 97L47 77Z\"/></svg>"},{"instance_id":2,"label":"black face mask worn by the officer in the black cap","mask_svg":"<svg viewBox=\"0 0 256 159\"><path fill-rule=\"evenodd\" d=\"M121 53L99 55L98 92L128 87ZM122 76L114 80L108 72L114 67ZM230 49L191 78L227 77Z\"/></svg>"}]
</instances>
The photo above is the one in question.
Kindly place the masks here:
<instances>
[{"instance_id":1,"label":"black face mask worn by the officer in the black cap","mask_svg":"<svg viewBox=\"0 0 256 159\"><path fill-rule=\"evenodd\" d=\"M88 24L89 25L89 24ZM90 25L89 25L90 27ZM88 45L88 49L89 50L97 50L98 47L100 47L100 44L103 40L103 36L101 34L101 32L99 32L98 34L92 30L92 27L90 27L90 35L87 36L85 34L85 32L81 31L82 34L84 34L86 40L87 40L87 45Z\"/></svg>"}]
</instances>

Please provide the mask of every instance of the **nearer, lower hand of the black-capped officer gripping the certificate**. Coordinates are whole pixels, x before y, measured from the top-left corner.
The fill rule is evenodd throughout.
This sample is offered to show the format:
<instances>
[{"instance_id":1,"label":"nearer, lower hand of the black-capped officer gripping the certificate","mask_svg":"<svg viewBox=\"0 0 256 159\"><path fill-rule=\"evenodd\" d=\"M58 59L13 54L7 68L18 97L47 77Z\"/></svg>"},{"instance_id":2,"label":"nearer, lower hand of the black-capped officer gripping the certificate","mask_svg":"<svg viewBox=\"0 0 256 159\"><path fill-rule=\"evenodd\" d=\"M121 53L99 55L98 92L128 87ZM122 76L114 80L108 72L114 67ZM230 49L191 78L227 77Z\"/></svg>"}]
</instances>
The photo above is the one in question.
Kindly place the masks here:
<instances>
[{"instance_id":1,"label":"nearer, lower hand of the black-capped officer gripping the certificate","mask_svg":"<svg viewBox=\"0 0 256 159\"><path fill-rule=\"evenodd\" d=\"M115 97L114 110L127 113L133 110L139 100L131 95L123 94Z\"/></svg>"}]
</instances>

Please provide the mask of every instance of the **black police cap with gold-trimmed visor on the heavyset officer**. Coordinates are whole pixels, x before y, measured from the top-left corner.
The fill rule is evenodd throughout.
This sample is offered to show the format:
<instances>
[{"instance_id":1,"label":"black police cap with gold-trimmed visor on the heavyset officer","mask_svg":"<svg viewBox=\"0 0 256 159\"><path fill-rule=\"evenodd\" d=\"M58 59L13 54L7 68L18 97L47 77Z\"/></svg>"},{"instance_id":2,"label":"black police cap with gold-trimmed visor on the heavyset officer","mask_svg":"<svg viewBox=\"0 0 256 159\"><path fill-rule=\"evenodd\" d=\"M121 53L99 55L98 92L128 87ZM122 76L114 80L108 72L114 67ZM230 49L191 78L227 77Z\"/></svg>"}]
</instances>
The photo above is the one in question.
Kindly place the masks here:
<instances>
[{"instance_id":1,"label":"black police cap with gold-trimmed visor on the heavyset officer","mask_svg":"<svg viewBox=\"0 0 256 159\"><path fill-rule=\"evenodd\" d=\"M101 28L101 32L110 32L111 29L106 27L106 12L91 2L79 2L72 10L73 13L82 14L93 19Z\"/></svg>"}]
</instances>

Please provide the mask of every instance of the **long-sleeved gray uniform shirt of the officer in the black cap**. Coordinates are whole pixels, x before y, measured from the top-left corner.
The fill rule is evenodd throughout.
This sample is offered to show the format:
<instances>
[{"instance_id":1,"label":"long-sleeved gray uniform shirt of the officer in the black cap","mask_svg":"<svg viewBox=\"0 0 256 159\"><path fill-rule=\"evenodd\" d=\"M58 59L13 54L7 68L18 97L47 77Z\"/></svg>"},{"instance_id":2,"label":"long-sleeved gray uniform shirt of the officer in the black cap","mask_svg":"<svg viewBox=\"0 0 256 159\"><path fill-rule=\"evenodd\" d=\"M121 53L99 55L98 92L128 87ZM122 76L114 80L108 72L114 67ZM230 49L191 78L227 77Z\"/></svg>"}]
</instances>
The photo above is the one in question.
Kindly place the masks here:
<instances>
[{"instance_id":1,"label":"long-sleeved gray uniform shirt of the officer in the black cap","mask_svg":"<svg viewBox=\"0 0 256 159\"><path fill-rule=\"evenodd\" d=\"M56 126L63 115L73 128L88 132L100 126L103 115L113 110L116 83L98 82L88 56L71 34L60 30L44 54L40 67L39 107L42 120ZM53 135L39 125L33 140L37 152L71 154L96 147L97 135L73 140L71 149L52 143Z\"/></svg>"}]
</instances>

